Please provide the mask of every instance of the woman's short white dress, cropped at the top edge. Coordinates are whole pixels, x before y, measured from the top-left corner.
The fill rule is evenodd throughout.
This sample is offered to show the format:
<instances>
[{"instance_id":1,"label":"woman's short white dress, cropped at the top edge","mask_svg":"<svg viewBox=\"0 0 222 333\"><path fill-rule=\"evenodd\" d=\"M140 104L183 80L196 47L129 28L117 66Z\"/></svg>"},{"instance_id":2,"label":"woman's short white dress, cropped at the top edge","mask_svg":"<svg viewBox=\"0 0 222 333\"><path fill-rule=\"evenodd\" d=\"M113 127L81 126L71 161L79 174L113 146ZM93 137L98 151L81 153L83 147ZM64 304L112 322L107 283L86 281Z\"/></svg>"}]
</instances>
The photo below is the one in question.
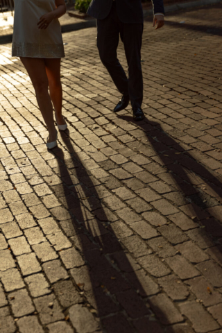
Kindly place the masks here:
<instances>
[{"instance_id":1,"label":"woman's short white dress, cropped at the top edge","mask_svg":"<svg viewBox=\"0 0 222 333\"><path fill-rule=\"evenodd\" d=\"M53 19L46 29L37 23L42 15L56 9L55 0L14 0L15 18L12 56L62 58L65 56L61 26Z\"/></svg>"}]
</instances>

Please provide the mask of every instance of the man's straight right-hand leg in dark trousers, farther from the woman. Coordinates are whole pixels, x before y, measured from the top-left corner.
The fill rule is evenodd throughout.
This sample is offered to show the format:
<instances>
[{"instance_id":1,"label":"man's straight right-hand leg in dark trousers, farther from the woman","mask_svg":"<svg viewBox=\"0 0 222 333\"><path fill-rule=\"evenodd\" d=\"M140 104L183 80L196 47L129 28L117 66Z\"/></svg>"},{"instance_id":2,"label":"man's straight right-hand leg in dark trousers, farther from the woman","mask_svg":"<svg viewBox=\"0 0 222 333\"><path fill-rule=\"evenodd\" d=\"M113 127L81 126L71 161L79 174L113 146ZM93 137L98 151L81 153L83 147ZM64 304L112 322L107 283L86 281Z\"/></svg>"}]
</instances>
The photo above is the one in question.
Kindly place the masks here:
<instances>
[{"instance_id":1,"label":"man's straight right-hand leg in dark trousers, farther from the woman","mask_svg":"<svg viewBox=\"0 0 222 333\"><path fill-rule=\"evenodd\" d=\"M143 77L141 67L141 47L143 24L121 23L121 40L128 62L128 89L133 110L141 108L143 101Z\"/></svg>"}]
</instances>

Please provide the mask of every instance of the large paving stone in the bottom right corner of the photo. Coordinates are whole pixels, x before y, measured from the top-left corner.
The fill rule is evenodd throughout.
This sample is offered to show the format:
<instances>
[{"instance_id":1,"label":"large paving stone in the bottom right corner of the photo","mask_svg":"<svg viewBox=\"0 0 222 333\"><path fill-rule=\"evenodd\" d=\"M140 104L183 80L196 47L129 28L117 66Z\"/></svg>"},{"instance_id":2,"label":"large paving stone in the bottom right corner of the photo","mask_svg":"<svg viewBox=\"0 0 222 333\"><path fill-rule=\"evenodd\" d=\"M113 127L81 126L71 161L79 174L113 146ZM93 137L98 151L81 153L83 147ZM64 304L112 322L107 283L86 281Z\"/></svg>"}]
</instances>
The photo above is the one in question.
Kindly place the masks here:
<instances>
[{"instance_id":1,"label":"large paving stone in the bottom right corner of the photo","mask_svg":"<svg viewBox=\"0 0 222 333\"><path fill-rule=\"evenodd\" d=\"M185 314L189 321L191 321L195 332L205 333L213 330L219 329L218 323L214 321L212 316L205 311L200 303L196 301L185 302L180 305L182 314Z\"/></svg>"}]
</instances>

